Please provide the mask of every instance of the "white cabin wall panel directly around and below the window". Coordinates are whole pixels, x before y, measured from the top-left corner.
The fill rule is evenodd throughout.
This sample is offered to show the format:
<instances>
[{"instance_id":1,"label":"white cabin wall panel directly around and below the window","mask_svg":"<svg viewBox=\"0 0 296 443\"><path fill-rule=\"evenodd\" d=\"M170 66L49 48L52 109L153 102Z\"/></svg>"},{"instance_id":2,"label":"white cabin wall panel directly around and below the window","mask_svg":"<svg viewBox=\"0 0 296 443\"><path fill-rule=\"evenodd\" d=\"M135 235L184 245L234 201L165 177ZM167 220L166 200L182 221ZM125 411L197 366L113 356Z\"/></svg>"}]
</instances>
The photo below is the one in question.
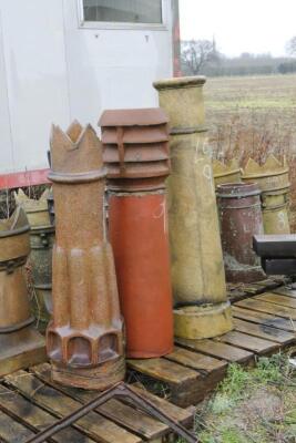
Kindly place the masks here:
<instances>
[{"instance_id":1,"label":"white cabin wall panel directly around and below the window","mask_svg":"<svg viewBox=\"0 0 296 443\"><path fill-rule=\"evenodd\" d=\"M152 82L172 75L171 14L166 30L83 29L78 0L63 3L72 119L95 126L104 109L156 106Z\"/></svg>"}]
</instances>

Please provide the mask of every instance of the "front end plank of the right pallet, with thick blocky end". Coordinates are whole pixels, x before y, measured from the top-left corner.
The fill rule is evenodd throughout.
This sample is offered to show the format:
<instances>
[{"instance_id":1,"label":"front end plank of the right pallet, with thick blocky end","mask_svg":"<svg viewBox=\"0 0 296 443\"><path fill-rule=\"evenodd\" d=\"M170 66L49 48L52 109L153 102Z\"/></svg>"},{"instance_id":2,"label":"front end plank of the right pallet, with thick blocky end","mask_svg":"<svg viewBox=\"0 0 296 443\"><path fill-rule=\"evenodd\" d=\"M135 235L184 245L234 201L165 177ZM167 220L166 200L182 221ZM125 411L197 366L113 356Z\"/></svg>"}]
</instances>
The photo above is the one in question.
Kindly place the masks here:
<instances>
[{"instance_id":1,"label":"front end plank of the right pallet, with thick blocky end","mask_svg":"<svg viewBox=\"0 0 296 443\"><path fill-rule=\"evenodd\" d=\"M166 359L127 360L127 365L165 383L170 389L170 401L178 406L186 408L203 398L203 377L197 371Z\"/></svg>"}]
</instances>

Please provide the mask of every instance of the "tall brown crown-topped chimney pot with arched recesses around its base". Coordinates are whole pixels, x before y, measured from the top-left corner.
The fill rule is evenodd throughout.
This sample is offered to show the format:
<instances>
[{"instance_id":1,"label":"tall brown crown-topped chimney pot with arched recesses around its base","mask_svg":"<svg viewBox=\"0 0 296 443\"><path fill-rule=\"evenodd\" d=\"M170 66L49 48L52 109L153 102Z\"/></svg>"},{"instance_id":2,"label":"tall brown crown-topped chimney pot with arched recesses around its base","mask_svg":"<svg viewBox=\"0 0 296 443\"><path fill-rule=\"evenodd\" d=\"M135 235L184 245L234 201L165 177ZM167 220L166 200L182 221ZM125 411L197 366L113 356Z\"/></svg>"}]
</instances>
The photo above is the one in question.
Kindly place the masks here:
<instances>
[{"instance_id":1,"label":"tall brown crown-topped chimney pot with arched recesses around its base","mask_svg":"<svg viewBox=\"0 0 296 443\"><path fill-rule=\"evenodd\" d=\"M52 126L55 208L53 318L47 330L53 380L105 389L124 377L123 321L103 214L102 144L91 125Z\"/></svg>"}]
</instances>

